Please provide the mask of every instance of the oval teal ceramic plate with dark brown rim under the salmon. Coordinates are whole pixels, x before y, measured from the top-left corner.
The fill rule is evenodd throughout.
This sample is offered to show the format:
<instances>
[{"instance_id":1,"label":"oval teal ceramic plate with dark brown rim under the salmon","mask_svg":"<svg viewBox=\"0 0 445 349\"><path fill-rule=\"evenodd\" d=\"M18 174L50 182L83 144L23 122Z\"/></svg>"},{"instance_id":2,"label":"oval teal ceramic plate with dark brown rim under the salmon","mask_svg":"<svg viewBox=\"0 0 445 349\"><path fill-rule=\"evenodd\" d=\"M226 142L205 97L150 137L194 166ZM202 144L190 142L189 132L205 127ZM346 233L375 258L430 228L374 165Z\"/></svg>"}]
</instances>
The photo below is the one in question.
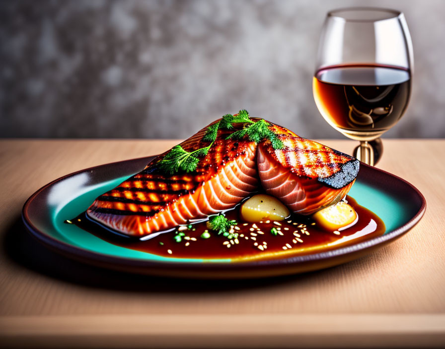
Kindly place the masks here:
<instances>
[{"instance_id":1,"label":"oval teal ceramic plate with dark brown rim under the salmon","mask_svg":"<svg viewBox=\"0 0 445 349\"><path fill-rule=\"evenodd\" d=\"M142 171L152 159L101 165L45 185L23 207L27 229L45 245L68 257L107 268L175 277L256 278L317 270L359 258L408 232L422 218L426 207L423 195L410 183L361 164L349 195L383 220L383 235L322 253L236 263L162 257L116 246L64 224L66 219L85 211L97 196Z\"/></svg>"}]
</instances>

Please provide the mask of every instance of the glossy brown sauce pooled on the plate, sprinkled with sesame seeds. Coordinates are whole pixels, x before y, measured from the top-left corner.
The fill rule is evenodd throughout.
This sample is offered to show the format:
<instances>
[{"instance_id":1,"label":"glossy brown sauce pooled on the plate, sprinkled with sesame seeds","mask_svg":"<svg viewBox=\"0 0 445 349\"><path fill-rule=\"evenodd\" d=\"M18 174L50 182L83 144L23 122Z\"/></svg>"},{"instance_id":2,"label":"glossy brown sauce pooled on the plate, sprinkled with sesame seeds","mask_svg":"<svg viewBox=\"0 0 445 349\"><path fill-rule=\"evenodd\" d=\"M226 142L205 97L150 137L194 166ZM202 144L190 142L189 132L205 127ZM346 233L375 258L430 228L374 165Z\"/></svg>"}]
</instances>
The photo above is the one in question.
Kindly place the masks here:
<instances>
[{"instance_id":1,"label":"glossy brown sauce pooled on the plate, sprinkled with sesame seeds","mask_svg":"<svg viewBox=\"0 0 445 349\"><path fill-rule=\"evenodd\" d=\"M348 203L358 215L356 223L338 231L326 231L317 226L310 217L293 215L280 221L263 223L245 223L239 217L239 206L225 213L229 220L237 221L237 238L224 237L209 231L206 222L195 223L189 228L182 228L184 233L175 237L178 230L161 233L145 241L122 236L103 228L86 218L85 213L71 220L79 228L97 237L125 248L175 258L232 259L272 259L324 252L338 247L381 235L385 232L383 221L373 212L360 206L357 201L347 197ZM275 228L277 235L271 233ZM203 238L206 231L210 237ZM274 230L275 231L275 230ZM209 234L204 234L208 236Z\"/></svg>"}]
</instances>

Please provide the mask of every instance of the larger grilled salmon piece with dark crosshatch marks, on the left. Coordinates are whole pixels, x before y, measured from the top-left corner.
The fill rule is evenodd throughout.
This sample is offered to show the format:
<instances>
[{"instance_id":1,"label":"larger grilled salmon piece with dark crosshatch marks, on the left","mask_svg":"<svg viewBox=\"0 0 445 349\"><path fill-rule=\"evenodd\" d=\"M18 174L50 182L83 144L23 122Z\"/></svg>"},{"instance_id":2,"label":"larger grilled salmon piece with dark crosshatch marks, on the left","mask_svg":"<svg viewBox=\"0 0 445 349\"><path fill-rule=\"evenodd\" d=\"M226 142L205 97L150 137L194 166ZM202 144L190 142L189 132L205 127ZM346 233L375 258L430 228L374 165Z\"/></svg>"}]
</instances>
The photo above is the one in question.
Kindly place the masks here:
<instances>
[{"instance_id":1,"label":"larger grilled salmon piece with dark crosshatch marks, on the left","mask_svg":"<svg viewBox=\"0 0 445 349\"><path fill-rule=\"evenodd\" d=\"M202 147L207 127L180 145L187 151ZM271 129L283 136L296 135L278 125L272 125ZM161 154L142 172L99 196L87 215L120 233L144 236L233 208L258 191L259 178L257 144L249 140L226 140L231 132L219 131L195 172L159 173L156 164L166 153Z\"/></svg>"}]
</instances>

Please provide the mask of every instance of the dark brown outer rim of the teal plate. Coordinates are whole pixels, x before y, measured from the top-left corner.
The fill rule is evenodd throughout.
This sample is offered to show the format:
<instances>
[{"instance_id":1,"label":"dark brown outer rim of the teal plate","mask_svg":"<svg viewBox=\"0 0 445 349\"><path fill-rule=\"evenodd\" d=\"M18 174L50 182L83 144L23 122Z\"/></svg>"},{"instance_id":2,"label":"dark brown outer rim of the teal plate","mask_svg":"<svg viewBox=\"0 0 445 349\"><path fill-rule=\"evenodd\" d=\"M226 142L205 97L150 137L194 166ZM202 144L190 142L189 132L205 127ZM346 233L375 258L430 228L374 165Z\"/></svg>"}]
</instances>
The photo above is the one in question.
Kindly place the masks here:
<instances>
[{"instance_id":1,"label":"dark brown outer rim of the teal plate","mask_svg":"<svg viewBox=\"0 0 445 349\"><path fill-rule=\"evenodd\" d=\"M382 245L387 242L389 242L392 239L395 239L397 237L400 237L404 233L407 233L412 227L414 227L422 218L422 216L425 213L426 210L426 200L423 194L411 183L406 181L403 178L400 178L397 175L393 175L389 172L386 172L384 170L377 169L375 167L366 165L364 163L360 163L360 166L363 168L368 168L368 170L371 171L377 171L384 175L389 175L393 179L396 179L397 181L400 181L404 183L405 185L408 185L412 190L415 191L415 193L418 195L418 197L421 200L421 206L417 213L403 226L399 227L396 230L393 230L389 233L385 233L381 236L373 237L369 240L359 242L354 245L341 247L338 249L334 249L331 251L326 252L319 252L319 253L313 253L303 256L294 256L294 257L288 257L288 258L278 258L278 259L265 259L265 260L257 260L257 261L240 261L240 262L168 262L168 261L148 261L148 260L139 260L139 259L133 259L133 258L123 258L123 257L117 257L117 256L111 256L102 254L99 252L90 251L81 247L74 246L72 244L63 242L58 240L57 238L45 233L44 231L41 231L38 229L31 221L28 215L28 208L30 205L32 205L33 201L39 196L39 194L47 189L48 187L54 185L55 183L64 180L70 176L78 175L83 172L100 169L103 167L109 167L112 165L119 165L124 164L126 162L136 162L136 161L142 161L143 159L147 159L147 161L151 161L155 156L149 156L149 157L141 157L141 158L135 158L130 160L123 160L123 161L117 161L112 163L107 163L103 165L98 165L94 167L90 167L87 169L79 170L76 172L73 172L68 175L64 175L62 177L59 177L48 184L45 184L40 189L38 189L34 194L32 194L23 205L22 209L22 220L25 224L25 227L27 230L37 238L40 242L43 242L45 245L50 247L53 250L56 250L58 252L64 252L68 254L70 257L77 259L77 260L84 260L89 262L95 262L96 264L99 264L101 266L106 267L116 267L117 269L127 269L127 267L136 267L136 268L148 268L148 269L159 269L159 270L165 270L165 269L172 269L172 270L236 270L236 269L243 269L243 268L257 268L257 267L277 267L280 265L290 265L290 264L303 264L307 262L315 262L315 261L321 261L330 259L333 257L341 257L345 255L349 255L355 252L359 252L361 250L370 249L372 247L375 247L377 245ZM111 264L111 265L110 265Z\"/></svg>"}]
</instances>

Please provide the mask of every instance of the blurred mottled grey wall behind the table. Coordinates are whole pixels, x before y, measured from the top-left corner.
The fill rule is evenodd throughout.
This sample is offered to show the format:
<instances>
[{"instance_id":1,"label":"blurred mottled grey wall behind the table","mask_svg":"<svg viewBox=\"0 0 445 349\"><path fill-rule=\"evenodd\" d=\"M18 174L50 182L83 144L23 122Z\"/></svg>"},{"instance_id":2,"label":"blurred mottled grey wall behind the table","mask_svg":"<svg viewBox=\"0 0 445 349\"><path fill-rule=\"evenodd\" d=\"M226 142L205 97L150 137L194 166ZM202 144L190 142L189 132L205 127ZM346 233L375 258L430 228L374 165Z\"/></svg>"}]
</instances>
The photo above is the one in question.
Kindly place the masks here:
<instances>
[{"instance_id":1,"label":"blurred mottled grey wall behind the table","mask_svg":"<svg viewBox=\"0 0 445 349\"><path fill-rule=\"evenodd\" d=\"M359 0L2 1L0 136L185 138L247 109L312 138L311 77L327 10ZM405 12L410 106L392 137L445 137L445 1Z\"/></svg>"}]
</instances>

